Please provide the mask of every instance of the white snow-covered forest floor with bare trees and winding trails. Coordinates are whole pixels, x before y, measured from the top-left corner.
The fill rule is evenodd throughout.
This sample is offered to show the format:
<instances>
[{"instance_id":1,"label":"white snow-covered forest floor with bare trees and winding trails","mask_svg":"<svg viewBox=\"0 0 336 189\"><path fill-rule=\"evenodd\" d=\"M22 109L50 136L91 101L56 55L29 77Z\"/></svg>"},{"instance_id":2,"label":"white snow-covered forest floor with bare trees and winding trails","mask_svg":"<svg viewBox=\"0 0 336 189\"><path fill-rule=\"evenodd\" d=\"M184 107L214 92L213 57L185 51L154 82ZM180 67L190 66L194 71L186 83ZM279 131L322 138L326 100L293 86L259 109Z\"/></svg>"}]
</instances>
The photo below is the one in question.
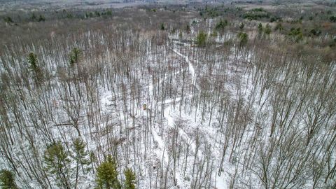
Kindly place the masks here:
<instances>
[{"instance_id":1,"label":"white snow-covered forest floor with bare trees and winding trails","mask_svg":"<svg viewBox=\"0 0 336 189\"><path fill-rule=\"evenodd\" d=\"M208 34L211 25L213 21L209 21ZM295 167L304 162L292 162L298 162L300 155L307 155L304 157L310 162L323 162L326 156L316 155L315 160L308 150L296 146L304 144L304 125L308 125L311 116L305 114L309 113L310 104L304 106L303 100L293 99L307 97L300 96L307 89L297 83L322 79L316 74L316 78L314 75L306 80L304 74L291 70L293 64L283 66L283 70L290 70L288 73L279 69L282 65L258 64L262 52L246 50L237 43L225 43L232 41L233 34L217 36L210 50L193 44L194 34L192 27L191 34L184 34L181 39L172 34L165 43L155 44L157 41L146 36L127 37L132 32L125 32L127 43L115 43L109 41L108 36L87 32L83 34L87 37L85 43L90 48L97 45L102 52L96 55L98 60L87 56L78 67L66 68L67 72L62 67L66 63L45 55L45 67L52 75L50 86L44 90L22 87L15 91L25 93L22 95L25 99L18 95L12 98L21 98L18 102L8 101L15 106L0 104L1 112L8 115L1 118L15 125L8 129L15 136L15 142L3 143L3 146L8 146L18 173L22 173L17 179L19 186L43 188L38 178L45 178L47 174L43 171L28 174L25 163L37 158L41 162L34 162L33 166L41 169L45 148L51 141L62 141L73 153L71 142L80 135L97 160L92 161L89 174L80 176L78 188L94 188L94 169L107 154L118 160L118 178L123 181L123 170L131 167L137 174L137 188L141 189L265 188L267 185L272 188L272 184L273 188L281 188L276 185L278 181L288 184L283 188L308 188L311 181L304 181L306 171ZM113 44L113 50L105 46L106 41ZM131 53L132 45L139 52ZM17 69L1 66L3 72L15 73ZM332 73L335 69L331 69L330 79L335 77ZM297 76L296 80L290 80L289 74ZM33 79L29 81L34 83ZM330 85L327 83L324 87ZM296 93L288 92L292 90ZM309 103L315 102L319 102L318 99ZM305 109L301 111L303 106ZM327 104L318 107L323 113L332 109ZM327 129L326 120L331 123L335 115L321 115L316 123L326 122L323 127L317 124L324 138L316 139L328 144L333 132ZM273 125L276 125L274 130ZM285 127L288 130L283 131ZM293 148L301 151L293 151ZM318 154L324 148L316 145L316 149L314 153ZM288 159L283 154L291 156L288 155ZM335 160L335 156L330 157ZM0 161L1 168L13 169L5 151L1 151ZM71 168L74 167L76 164L72 162ZM304 170L310 170L308 168ZM276 177L280 174L287 174L288 181ZM69 177L73 181L73 175ZM50 186L57 188L55 176L47 178Z\"/></svg>"}]
</instances>

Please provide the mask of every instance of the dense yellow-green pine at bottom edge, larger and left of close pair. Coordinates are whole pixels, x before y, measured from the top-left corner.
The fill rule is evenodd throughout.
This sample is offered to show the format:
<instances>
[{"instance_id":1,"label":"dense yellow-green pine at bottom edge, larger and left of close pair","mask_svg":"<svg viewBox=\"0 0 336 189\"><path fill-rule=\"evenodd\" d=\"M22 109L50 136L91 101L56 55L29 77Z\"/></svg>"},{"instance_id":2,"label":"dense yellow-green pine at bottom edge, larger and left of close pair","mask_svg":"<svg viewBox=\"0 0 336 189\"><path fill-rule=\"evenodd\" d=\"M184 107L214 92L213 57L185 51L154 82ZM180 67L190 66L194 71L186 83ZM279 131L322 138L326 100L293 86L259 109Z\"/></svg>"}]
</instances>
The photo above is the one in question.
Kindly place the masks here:
<instances>
[{"instance_id":1,"label":"dense yellow-green pine at bottom edge, larger and left of close pair","mask_svg":"<svg viewBox=\"0 0 336 189\"><path fill-rule=\"evenodd\" d=\"M97 189L120 189L117 177L116 160L109 155L107 160L97 167Z\"/></svg>"}]
</instances>

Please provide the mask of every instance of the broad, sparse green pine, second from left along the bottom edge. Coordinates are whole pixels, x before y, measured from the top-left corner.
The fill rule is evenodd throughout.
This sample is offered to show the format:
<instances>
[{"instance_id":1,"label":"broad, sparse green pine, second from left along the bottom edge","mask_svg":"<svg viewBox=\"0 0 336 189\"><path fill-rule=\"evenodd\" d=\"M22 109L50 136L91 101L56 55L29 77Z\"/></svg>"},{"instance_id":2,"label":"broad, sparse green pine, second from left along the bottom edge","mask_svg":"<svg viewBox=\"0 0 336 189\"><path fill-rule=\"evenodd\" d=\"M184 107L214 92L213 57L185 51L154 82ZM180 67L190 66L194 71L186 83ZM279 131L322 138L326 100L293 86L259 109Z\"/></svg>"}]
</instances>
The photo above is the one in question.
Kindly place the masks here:
<instances>
[{"instance_id":1,"label":"broad, sparse green pine, second from left along the bottom edge","mask_svg":"<svg viewBox=\"0 0 336 189\"><path fill-rule=\"evenodd\" d=\"M71 188L69 182L69 169L71 160L60 141L57 141L47 147L44 153L45 170L50 175L55 175L58 185L62 188Z\"/></svg>"}]
</instances>

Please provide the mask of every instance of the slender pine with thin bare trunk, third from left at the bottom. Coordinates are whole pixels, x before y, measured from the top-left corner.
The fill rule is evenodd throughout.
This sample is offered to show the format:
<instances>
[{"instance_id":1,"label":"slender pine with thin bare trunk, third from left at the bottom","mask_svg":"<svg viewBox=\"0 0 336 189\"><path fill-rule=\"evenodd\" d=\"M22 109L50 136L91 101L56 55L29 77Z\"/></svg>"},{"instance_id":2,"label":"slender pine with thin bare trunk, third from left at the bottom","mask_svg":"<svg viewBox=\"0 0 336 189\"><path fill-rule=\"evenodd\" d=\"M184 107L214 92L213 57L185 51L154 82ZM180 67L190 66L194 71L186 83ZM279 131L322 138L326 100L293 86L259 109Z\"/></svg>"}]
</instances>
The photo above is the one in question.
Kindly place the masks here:
<instances>
[{"instance_id":1,"label":"slender pine with thin bare trunk, third from left at the bottom","mask_svg":"<svg viewBox=\"0 0 336 189\"><path fill-rule=\"evenodd\" d=\"M82 169L83 174L85 174L86 172L85 170L90 170L90 168L86 168L86 169L84 168L90 165L89 153L85 150L85 146L86 146L85 142L80 138L77 138L73 141L73 145L72 145L73 152L74 152L73 159L76 160L76 186L78 183L79 165Z\"/></svg>"}]
</instances>

